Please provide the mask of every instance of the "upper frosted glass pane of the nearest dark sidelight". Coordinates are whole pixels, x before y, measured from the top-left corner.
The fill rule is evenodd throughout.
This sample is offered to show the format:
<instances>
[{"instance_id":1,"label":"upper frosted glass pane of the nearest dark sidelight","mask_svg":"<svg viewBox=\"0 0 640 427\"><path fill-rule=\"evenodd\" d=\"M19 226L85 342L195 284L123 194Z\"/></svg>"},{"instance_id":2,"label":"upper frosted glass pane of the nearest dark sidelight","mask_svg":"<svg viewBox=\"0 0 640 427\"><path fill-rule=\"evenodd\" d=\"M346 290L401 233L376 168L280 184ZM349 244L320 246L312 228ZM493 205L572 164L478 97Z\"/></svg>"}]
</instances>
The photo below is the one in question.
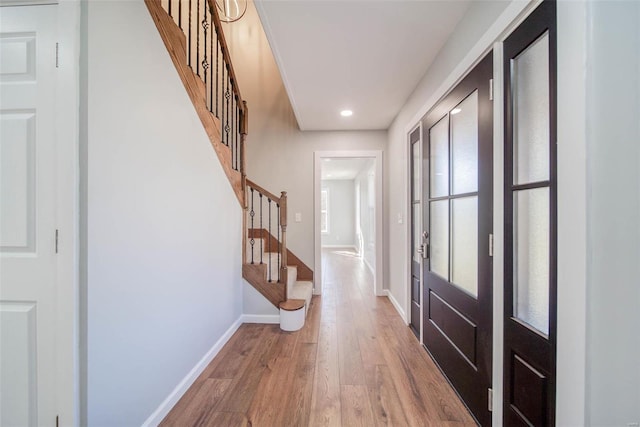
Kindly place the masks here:
<instances>
[{"instance_id":1,"label":"upper frosted glass pane of the nearest dark sidelight","mask_svg":"<svg viewBox=\"0 0 640 427\"><path fill-rule=\"evenodd\" d=\"M549 34L512 61L515 184L549 179Z\"/></svg>"}]
</instances>

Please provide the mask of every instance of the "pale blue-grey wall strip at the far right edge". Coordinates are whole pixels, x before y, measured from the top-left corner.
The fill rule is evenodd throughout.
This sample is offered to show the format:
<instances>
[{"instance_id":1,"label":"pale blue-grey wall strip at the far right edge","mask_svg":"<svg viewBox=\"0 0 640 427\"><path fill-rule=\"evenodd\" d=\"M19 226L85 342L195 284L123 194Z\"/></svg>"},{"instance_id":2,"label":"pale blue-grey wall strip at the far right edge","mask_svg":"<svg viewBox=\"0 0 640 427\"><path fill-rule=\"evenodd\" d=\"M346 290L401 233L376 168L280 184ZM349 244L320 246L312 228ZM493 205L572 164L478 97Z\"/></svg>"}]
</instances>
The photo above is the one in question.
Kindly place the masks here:
<instances>
[{"instance_id":1,"label":"pale blue-grey wall strip at the far right edge","mask_svg":"<svg viewBox=\"0 0 640 427\"><path fill-rule=\"evenodd\" d=\"M640 3L589 2L587 23L587 422L626 426L640 422Z\"/></svg>"}]
</instances>

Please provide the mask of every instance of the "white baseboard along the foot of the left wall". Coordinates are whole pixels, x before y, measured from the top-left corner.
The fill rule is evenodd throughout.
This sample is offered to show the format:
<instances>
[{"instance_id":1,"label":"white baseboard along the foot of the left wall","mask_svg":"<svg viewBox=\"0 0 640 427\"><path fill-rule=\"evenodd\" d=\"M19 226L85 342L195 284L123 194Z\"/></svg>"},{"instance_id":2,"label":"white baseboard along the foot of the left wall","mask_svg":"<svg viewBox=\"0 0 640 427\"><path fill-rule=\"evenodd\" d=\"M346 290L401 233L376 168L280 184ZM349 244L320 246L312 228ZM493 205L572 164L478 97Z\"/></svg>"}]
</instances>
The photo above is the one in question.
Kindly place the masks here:
<instances>
[{"instance_id":1,"label":"white baseboard along the foot of the left wall","mask_svg":"<svg viewBox=\"0 0 640 427\"><path fill-rule=\"evenodd\" d=\"M191 369L191 371L185 376L182 381L173 389L173 391L167 396L167 398L160 404L158 409L156 409L147 420L142 424L142 427L155 427L167 416L171 408L178 403L178 400L184 395L189 387L194 383L194 381L198 378L198 376L204 371L204 369L211 363L214 357L222 350L222 347L229 341L229 339L233 336L233 334L238 330L240 325L242 325L244 316L240 316L238 320L233 322L233 324L227 329L227 331L222 334L220 339L216 341L216 343L211 347L211 349L204 355L202 359L196 364L196 366Z\"/></svg>"}]
</instances>

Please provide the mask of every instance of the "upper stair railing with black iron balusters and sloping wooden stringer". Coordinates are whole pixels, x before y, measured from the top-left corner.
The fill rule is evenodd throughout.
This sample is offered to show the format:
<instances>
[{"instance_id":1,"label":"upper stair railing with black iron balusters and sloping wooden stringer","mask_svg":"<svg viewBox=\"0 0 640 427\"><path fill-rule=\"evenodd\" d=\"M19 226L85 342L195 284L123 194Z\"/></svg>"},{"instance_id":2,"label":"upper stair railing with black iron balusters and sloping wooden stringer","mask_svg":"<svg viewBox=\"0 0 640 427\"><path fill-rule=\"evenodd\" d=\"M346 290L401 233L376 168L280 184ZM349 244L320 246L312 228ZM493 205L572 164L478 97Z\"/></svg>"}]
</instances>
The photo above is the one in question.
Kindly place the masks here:
<instances>
[{"instance_id":1,"label":"upper stair railing with black iron balusters and sloping wooden stringer","mask_svg":"<svg viewBox=\"0 0 640 427\"><path fill-rule=\"evenodd\" d=\"M248 108L215 0L145 0L145 4L244 208Z\"/></svg>"}]
</instances>

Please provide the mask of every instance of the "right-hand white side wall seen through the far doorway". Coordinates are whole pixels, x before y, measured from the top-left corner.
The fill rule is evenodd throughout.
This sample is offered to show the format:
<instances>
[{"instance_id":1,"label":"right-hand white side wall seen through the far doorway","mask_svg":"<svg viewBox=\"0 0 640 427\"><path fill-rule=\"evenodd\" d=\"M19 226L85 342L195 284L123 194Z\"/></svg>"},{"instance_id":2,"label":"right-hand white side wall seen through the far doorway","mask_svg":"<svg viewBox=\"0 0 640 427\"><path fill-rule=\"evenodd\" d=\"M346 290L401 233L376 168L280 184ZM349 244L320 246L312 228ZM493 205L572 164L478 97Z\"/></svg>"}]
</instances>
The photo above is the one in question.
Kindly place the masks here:
<instances>
[{"instance_id":1,"label":"right-hand white side wall seen through the far doorway","mask_svg":"<svg viewBox=\"0 0 640 427\"><path fill-rule=\"evenodd\" d=\"M362 241L362 259L368 264L371 272L376 271L376 198L375 198L375 163L369 160L366 166L356 176L355 185L360 188L359 204L360 214L360 240Z\"/></svg>"}]
</instances>

